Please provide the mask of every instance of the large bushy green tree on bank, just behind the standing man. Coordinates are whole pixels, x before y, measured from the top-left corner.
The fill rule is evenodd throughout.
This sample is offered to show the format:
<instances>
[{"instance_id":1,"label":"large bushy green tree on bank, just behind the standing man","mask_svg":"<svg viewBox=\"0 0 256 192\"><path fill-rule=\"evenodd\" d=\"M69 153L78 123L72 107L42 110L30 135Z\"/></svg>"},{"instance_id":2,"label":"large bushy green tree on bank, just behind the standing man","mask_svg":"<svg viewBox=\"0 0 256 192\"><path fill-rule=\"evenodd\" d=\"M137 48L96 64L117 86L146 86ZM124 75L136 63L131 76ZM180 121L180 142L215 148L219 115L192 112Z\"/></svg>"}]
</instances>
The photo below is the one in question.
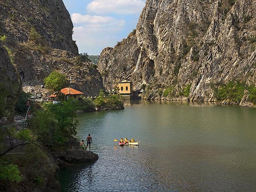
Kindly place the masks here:
<instances>
[{"instance_id":1,"label":"large bushy green tree on bank, just behind the standing man","mask_svg":"<svg viewBox=\"0 0 256 192\"><path fill-rule=\"evenodd\" d=\"M59 150L70 136L76 135L78 120L75 118L79 104L72 99L58 104L48 103L37 111L31 120L31 129L39 141L51 150Z\"/></svg>"}]
</instances>

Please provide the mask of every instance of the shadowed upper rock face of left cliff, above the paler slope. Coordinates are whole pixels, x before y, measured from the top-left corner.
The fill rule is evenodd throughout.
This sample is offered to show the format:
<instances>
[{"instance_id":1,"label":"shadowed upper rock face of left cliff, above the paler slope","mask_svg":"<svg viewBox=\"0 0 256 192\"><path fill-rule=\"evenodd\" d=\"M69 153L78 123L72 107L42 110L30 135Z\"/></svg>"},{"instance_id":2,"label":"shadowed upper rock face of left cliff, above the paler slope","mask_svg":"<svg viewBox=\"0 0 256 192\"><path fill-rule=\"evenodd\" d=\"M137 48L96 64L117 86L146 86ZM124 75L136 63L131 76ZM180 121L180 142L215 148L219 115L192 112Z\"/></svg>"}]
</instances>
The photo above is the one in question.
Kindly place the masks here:
<instances>
[{"instance_id":1,"label":"shadowed upper rock face of left cliff, above the paler slope","mask_svg":"<svg viewBox=\"0 0 256 192\"><path fill-rule=\"evenodd\" d=\"M1 33L9 39L26 42L34 27L48 46L78 53L72 40L73 24L62 0L0 0L0 11Z\"/></svg>"}]
</instances>

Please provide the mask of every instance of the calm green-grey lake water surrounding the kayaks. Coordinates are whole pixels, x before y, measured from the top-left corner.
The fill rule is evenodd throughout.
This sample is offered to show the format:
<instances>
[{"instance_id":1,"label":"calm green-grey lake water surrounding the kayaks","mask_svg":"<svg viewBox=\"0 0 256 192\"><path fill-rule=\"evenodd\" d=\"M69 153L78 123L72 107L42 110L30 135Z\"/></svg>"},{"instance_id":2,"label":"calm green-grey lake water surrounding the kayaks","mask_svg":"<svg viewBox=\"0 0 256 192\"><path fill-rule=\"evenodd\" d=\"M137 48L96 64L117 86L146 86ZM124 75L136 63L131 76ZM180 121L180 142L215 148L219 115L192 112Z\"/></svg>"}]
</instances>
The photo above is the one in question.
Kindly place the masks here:
<instances>
[{"instance_id":1,"label":"calm green-grey lake water surrounding the kayaks","mask_svg":"<svg viewBox=\"0 0 256 192\"><path fill-rule=\"evenodd\" d=\"M93 164L59 173L63 192L256 191L256 109L195 102L79 114ZM127 137L139 146L117 145Z\"/></svg>"}]
</instances>

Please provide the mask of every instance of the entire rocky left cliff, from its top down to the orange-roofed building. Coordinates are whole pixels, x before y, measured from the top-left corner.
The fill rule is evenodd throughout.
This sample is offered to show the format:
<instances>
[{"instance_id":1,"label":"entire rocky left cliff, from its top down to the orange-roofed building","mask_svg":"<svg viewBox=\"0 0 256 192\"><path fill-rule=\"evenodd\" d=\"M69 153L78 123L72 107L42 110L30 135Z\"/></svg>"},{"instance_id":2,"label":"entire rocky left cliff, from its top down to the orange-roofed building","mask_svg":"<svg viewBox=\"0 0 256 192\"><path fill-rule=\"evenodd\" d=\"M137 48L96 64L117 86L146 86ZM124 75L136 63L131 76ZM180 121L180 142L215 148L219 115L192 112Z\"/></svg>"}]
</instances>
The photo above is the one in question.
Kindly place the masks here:
<instances>
[{"instance_id":1,"label":"entire rocky left cliff, from its top down to the orange-roofed building","mask_svg":"<svg viewBox=\"0 0 256 192\"><path fill-rule=\"evenodd\" d=\"M43 79L57 70L71 77L72 88L87 96L103 88L100 73L78 58L72 21L62 0L0 0L0 36L20 77L23 90L47 92Z\"/></svg>"}]
</instances>

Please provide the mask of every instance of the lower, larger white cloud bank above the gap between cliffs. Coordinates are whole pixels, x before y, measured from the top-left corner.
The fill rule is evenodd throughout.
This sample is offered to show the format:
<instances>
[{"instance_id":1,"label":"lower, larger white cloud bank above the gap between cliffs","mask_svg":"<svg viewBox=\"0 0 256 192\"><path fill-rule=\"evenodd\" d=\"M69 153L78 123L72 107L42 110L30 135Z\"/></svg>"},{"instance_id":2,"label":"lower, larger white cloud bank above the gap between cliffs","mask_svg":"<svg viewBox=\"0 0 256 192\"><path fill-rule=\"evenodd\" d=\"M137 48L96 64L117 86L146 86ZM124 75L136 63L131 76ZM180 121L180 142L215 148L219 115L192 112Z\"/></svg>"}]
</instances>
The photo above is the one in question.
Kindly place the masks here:
<instances>
[{"instance_id":1,"label":"lower, larger white cloud bank above the gap between cliffs","mask_svg":"<svg viewBox=\"0 0 256 192\"><path fill-rule=\"evenodd\" d=\"M120 32L125 27L125 20L107 16L91 16L72 14L75 27L73 39L79 47L79 52L89 55L100 54L99 50L115 46L120 39Z\"/></svg>"}]
</instances>

